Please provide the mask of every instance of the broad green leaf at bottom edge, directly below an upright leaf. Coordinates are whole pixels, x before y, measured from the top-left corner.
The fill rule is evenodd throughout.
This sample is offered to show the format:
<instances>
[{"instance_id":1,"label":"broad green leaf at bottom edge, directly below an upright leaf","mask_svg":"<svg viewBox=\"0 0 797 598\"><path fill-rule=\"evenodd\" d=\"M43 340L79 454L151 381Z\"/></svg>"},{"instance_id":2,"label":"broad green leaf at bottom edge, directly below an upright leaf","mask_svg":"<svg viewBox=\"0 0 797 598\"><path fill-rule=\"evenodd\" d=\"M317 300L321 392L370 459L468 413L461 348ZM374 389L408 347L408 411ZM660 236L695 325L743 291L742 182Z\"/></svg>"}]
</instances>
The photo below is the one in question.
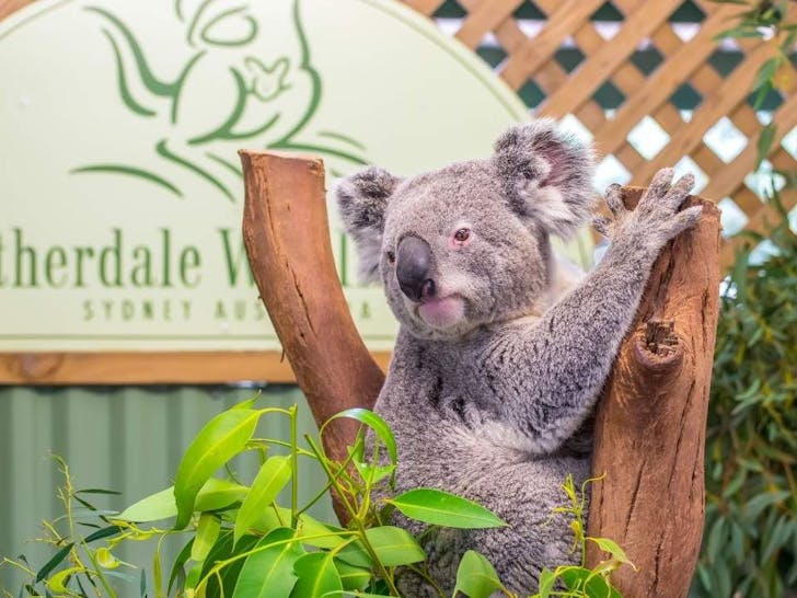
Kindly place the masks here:
<instances>
[{"instance_id":1,"label":"broad green leaf at bottom edge, directly below an upright leaf","mask_svg":"<svg viewBox=\"0 0 797 598\"><path fill-rule=\"evenodd\" d=\"M262 538L246 557L238 576L232 598L287 598L297 583L293 565L303 554L293 538L293 530L277 528Z\"/></svg>"}]
</instances>

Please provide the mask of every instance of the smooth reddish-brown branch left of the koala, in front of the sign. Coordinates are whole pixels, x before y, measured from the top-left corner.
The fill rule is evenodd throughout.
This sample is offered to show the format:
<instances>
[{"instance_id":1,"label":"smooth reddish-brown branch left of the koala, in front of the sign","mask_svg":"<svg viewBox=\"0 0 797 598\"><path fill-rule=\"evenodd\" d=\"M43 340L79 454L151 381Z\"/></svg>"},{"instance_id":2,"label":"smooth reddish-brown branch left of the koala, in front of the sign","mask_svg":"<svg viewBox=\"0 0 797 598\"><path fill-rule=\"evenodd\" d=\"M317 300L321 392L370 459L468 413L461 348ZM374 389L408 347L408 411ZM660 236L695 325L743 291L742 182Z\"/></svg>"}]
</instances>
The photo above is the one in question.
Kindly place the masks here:
<instances>
[{"instance_id":1,"label":"smooth reddish-brown branch left of the koala, in front of the sign","mask_svg":"<svg viewBox=\"0 0 797 598\"><path fill-rule=\"evenodd\" d=\"M335 269L323 162L282 152L240 156L250 264L315 422L372 407L384 375L355 327ZM330 425L327 455L345 459L356 429L343 419Z\"/></svg>"}]
</instances>

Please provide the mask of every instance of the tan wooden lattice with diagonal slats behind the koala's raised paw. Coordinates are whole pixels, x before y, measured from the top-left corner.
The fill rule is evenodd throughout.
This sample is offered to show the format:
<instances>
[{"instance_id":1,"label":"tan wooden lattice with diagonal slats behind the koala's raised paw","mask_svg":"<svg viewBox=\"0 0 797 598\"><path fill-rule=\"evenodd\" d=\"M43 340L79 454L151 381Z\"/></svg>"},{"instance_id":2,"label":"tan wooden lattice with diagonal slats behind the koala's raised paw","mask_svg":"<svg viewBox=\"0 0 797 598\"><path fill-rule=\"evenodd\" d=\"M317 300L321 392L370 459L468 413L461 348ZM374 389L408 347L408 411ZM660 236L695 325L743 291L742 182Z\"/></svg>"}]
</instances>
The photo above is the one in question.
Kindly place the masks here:
<instances>
[{"instance_id":1,"label":"tan wooden lattice with diagonal slats behind the koala's raised paw","mask_svg":"<svg viewBox=\"0 0 797 598\"><path fill-rule=\"evenodd\" d=\"M443 4L443 0L404 2L430 18ZM692 35L679 36L671 18L683 0L614 0L612 7L622 13L622 21L614 34L607 36L593 20L604 0L534 0L534 9L545 19L532 33L528 33L528 26L524 31L516 16L524 4L531 2L459 0L464 15L458 21L455 36L474 50L492 37L506 53L495 69L507 84L518 92L533 84L544 93L545 99L532 111L534 115L577 118L591 133L601 158L611 157L627 171L629 184L644 185L658 169L686 157L691 170L702 173L698 179L704 186L697 189L700 194L714 200L725 199L726 205L736 204L747 216L748 230L763 231L766 222L775 219L773 208L744 182L755 166L756 141L763 128L750 105L750 91L759 68L775 48L760 39L743 39L739 43L740 59L729 73L720 76L711 64L718 49L716 35L731 27L743 8L700 0L695 4L704 14L703 20L695 23ZM792 4L790 10L789 21L794 22L797 7ZM571 70L555 59L565 45L575 47L582 57ZM633 61L640 47L652 48L660 56L660 64L649 72ZM787 68L793 72L784 79L794 82L795 69L792 65ZM596 100L597 92L607 85L622 96L611 111ZM680 89L697 97L689 117L672 102ZM769 160L776 170L794 172L797 160L781 141L797 127L797 93L794 89L782 90L776 100L771 112L777 134ZM725 130L742 140L737 140L737 145L743 145L731 157L725 152L725 159L724 152L717 151L717 142L709 141L709 131L720 120ZM642 124L669 137L663 147L647 158L637 149L639 143L634 142L634 131ZM782 200L790 208L797 204L797 192L784 188ZM726 264L732 261L740 239L731 238L726 243Z\"/></svg>"}]
</instances>

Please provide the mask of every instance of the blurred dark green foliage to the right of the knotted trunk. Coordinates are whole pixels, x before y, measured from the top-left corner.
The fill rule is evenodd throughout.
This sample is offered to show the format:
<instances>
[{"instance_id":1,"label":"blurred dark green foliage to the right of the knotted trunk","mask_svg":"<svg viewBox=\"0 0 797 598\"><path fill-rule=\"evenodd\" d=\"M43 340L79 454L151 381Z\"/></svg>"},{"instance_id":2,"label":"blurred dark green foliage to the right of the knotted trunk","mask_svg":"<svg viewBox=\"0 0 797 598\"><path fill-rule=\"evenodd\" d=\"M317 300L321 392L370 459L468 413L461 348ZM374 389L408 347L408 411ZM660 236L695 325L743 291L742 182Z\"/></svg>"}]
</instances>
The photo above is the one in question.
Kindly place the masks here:
<instances>
[{"instance_id":1,"label":"blurred dark green foliage to the right of the knotted trunk","mask_svg":"<svg viewBox=\"0 0 797 598\"><path fill-rule=\"evenodd\" d=\"M756 263L742 251L721 299L693 597L797 588L797 235L771 202L782 214L774 254Z\"/></svg>"}]
</instances>

